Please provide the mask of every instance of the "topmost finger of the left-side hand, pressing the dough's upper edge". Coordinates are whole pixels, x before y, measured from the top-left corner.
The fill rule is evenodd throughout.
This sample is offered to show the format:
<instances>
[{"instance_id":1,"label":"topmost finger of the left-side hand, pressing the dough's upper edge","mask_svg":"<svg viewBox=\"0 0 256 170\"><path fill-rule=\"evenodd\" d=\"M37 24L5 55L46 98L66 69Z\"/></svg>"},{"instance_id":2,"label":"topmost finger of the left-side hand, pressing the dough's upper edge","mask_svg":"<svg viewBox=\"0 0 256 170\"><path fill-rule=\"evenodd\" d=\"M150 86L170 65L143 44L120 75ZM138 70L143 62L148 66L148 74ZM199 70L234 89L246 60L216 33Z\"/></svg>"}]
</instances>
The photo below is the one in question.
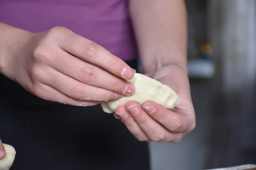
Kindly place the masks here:
<instances>
[{"instance_id":1,"label":"topmost finger of the left-side hand, pressing the dough's upper edge","mask_svg":"<svg viewBox=\"0 0 256 170\"><path fill-rule=\"evenodd\" d=\"M132 79L134 77L133 70L122 59L111 54L101 45L78 34L72 33L68 40L67 38L60 38L58 44L74 56L98 65L118 77L123 79Z\"/></svg>"}]
</instances>

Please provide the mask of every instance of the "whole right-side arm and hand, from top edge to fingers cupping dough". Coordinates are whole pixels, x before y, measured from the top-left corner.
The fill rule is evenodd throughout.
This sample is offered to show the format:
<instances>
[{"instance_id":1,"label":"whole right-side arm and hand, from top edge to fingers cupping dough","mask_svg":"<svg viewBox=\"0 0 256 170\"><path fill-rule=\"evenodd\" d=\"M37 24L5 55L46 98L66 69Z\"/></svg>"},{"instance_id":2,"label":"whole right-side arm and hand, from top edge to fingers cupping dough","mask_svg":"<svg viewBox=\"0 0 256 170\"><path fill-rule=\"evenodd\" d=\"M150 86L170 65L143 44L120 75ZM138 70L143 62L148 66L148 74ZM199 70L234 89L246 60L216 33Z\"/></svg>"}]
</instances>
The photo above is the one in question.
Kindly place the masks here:
<instances>
[{"instance_id":1,"label":"whole right-side arm and hand, from top edge to fingers cupping dough","mask_svg":"<svg viewBox=\"0 0 256 170\"><path fill-rule=\"evenodd\" d=\"M183 0L130 0L130 14L144 74L169 85L180 97L172 110L154 102L131 101L116 108L140 141L179 142L195 128L186 62L186 8Z\"/></svg>"}]
</instances>

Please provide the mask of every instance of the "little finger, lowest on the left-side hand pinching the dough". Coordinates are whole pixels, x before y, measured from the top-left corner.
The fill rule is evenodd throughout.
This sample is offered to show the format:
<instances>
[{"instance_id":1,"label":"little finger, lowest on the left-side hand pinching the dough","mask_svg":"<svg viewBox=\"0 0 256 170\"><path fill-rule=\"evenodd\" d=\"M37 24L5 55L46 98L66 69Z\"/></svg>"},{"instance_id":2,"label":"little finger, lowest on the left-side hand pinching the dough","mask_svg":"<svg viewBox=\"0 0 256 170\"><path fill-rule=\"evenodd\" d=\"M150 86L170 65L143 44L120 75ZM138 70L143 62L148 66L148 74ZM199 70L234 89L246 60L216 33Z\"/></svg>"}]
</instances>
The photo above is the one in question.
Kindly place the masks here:
<instances>
[{"instance_id":1,"label":"little finger, lowest on the left-side hand pinching the dough","mask_svg":"<svg viewBox=\"0 0 256 170\"><path fill-rule=\"evenodd\" d=\"M37 96L44 100L63 103L66 105L73 105L73 106L94 106L100 103L100 102L94 102L94 101L83 101L83 100L73 99L55 90L54 88L44 84L38 85Z\"/></svg>"}]
</instances>

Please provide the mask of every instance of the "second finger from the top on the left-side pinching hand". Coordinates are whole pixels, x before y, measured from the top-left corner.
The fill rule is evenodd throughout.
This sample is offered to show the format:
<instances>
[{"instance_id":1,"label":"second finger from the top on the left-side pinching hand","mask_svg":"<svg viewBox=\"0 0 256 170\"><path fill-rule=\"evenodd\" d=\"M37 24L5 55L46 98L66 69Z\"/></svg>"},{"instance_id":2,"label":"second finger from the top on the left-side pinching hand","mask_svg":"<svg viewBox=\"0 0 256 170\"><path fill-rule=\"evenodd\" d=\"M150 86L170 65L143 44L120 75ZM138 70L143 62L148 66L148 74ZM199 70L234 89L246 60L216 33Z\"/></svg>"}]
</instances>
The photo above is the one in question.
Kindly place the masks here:
<instances>
[{"instance_id":1,"label":"second finger from the top on the left-side pinching hand","mask_svg":"<svg viewBox=\"0 0 256 170\"><path fill-rule=\"evenodd\" d=\"M131 82L84 62L65 51L59 51L58 57L53 58L55 61L51 62L50 66L80 82L128 96L135 92Z\"/></svg>"}]
</instances>

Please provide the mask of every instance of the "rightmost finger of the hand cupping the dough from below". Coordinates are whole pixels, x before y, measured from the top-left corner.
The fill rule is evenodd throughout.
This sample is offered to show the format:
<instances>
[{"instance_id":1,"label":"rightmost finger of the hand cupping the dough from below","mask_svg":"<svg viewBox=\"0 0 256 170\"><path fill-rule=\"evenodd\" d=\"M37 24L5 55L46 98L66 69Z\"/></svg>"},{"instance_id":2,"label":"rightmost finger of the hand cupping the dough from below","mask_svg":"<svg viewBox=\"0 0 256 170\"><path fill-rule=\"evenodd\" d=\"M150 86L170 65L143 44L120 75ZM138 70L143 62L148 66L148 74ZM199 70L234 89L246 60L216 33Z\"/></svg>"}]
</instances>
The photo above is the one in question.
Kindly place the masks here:
<instances>
[{"instance_id":1,"label":"rightmost finger of the hand cupping the dough from below","mask_svg":"<svg viewBox=\"0 0 256 170\"><path fill-rule=\"evenodd\" d=\"M166 129L172 132L186 130L187 122L185 114L178 114L151 101L143 103L142 108L154 120L166 127Z\"/></svg>"}]
</instances>

